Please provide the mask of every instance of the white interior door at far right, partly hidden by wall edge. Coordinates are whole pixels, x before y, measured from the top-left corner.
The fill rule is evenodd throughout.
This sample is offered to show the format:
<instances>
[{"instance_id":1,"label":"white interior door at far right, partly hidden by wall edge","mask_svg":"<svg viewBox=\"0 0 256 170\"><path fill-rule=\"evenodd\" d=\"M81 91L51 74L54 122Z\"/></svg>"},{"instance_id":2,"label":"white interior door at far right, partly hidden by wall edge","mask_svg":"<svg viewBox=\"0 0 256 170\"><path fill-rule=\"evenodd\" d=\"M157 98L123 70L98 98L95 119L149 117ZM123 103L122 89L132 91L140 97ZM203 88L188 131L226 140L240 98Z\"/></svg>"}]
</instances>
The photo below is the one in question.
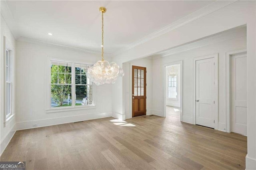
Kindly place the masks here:
<instances>
[{"instance_id":1,"label":"white interior door at far right, partly hidden by wall edge","mask_svg":"<svg viewBox=\"0 0 256 170\"><path fill-rule=\"evenodd\" d=\"M247 135L246 54L231 57L231 131Z\"/></svg>"}]
</instances>

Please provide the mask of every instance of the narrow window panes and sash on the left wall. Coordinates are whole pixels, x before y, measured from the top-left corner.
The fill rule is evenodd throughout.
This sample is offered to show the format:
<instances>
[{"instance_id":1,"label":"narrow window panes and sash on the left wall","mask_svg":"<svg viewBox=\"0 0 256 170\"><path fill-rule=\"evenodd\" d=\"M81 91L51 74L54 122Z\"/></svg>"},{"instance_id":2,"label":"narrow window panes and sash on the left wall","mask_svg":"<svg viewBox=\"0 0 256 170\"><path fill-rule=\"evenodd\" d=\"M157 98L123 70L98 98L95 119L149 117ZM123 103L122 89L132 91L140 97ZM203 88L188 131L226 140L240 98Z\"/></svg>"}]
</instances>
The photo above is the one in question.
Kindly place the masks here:
<instances>
[{"instance_id":1,"label":"narrow window panes and sash on the left wall","mask_svg":"<svg viewBox=\"0 0 256 170\"><path fill-rule=\"evenodd\" d=\"M12 55L11 51L6 49L6 119L12 115Z\"/></svg>"}]
</instances>

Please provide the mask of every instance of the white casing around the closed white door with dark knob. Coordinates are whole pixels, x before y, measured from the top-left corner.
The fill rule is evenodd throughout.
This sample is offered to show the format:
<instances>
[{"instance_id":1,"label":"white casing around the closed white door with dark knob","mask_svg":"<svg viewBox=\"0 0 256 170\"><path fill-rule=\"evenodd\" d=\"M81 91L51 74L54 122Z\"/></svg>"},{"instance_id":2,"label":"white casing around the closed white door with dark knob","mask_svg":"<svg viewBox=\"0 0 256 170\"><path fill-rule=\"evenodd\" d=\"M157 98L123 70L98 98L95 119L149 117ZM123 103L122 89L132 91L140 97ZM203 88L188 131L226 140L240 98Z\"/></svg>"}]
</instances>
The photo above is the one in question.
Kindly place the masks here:
<instances>
[{"instance_id":1,"label":"white casing around the closed white door with dark knob","mask_svg":"<svg viewBox=\"0 0 256 170\"><path fill-rule=\"evenodd\" d=\"M193 124L196 125L196 61L214 58L214 129L218 129L218 53L193 58Z\"/></svg>"}]
</instances>

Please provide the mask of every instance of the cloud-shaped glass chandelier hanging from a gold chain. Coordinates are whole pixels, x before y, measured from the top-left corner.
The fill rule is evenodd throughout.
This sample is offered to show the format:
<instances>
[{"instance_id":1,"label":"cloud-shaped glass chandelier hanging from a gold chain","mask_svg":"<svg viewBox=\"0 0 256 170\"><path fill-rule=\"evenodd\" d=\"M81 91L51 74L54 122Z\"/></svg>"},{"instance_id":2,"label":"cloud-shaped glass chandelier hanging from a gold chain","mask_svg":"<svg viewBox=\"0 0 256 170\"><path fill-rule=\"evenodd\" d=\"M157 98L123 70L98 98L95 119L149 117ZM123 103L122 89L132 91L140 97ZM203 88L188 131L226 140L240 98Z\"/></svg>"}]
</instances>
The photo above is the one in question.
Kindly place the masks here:
<instances>
[{"instance_id":1,"label":"cloud-shaped glass chandelier hanging from a gold chain","mask_svg":"<svg viewBox=\"0 0 256 170\"><path fill-rule=\"evenodd\" d=\"M87 77L92 80L96 85L102 85L104 83L115 83L118 76L123 77L124 71L115 62L109 63L104 60L104 43L103 43L103 14L106 12L106 8L99 8L102 14L102 45L101 45L101 61L97 61L92 67L87 69Z\"/></svg>"}]
</instances>

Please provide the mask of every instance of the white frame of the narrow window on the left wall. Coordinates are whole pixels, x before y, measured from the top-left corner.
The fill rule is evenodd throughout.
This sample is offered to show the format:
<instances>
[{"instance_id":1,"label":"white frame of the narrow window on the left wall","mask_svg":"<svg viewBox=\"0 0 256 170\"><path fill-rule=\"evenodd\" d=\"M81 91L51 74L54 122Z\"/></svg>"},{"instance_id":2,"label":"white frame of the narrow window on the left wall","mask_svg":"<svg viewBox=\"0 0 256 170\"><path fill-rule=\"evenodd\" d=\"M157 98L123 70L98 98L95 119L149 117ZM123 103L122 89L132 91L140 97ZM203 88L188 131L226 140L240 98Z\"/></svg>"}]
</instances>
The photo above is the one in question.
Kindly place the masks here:
<instances>
[{"instance_id":1,"label":"white frame of the narrow window on the left wall","mask_svg":"<svg viewBox=\"0 0 256 170\"><path fill-rule=\"evenodd\" d=\"M8 60L6 60L6 51L8 51ZM10 63L9 63L10 62ZM8 65L8 76L6 76L6 68ZM6 127L6 123L12 119L15 115L14 97L15 97L15 49L4 36L4 127ZM7 114L7 83L10 84L10 113Z\"/></svg>"}]
</instances>

